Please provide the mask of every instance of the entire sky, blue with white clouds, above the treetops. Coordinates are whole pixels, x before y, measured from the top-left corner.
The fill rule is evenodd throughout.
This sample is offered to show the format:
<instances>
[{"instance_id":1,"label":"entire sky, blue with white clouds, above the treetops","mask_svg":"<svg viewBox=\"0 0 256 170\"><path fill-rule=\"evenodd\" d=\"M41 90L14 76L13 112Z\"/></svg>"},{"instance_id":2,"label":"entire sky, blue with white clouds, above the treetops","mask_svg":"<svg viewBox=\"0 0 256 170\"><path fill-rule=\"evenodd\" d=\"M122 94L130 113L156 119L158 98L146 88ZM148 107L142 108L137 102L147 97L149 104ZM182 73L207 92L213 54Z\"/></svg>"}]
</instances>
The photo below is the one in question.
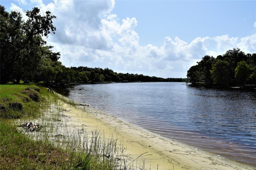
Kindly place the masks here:
<instances>
[{"instance_id":1,"label":"entire sky, blue with white clouds, above the treetops","mask_svg":"<svg viewBox=\"0 0 256 170\"><path fill-rule=\"evenodd\" d=\"M6 10L49 10L47 45L66 67L185 78L205 55L256 53L256 1L1 1Z\"/></svg>"}]
</instances>

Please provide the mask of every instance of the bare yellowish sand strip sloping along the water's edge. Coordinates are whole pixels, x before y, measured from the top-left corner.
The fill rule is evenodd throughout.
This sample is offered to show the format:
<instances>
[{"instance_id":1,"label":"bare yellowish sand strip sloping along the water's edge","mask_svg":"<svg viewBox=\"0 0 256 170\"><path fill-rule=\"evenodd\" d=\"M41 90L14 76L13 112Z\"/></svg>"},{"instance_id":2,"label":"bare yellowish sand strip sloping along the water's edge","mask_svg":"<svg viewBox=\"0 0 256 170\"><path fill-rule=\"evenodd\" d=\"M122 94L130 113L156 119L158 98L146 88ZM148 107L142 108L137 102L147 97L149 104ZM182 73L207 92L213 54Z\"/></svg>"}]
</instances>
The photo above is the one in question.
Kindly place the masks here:
<instances>
[{"instance_id":1,"label":"bare yellowish sand strip sloping along the water's edge","mask_svg":"<svg viewBox=\"0 0 256 170\"><path fill-rule=\"evenodd\" d=\"M123 137L124 154L131 162L141 154L147 169L254 169L241 164L226 161L196 148L189 147L162 136L146 131L126 123L94 108L88 107L88 114L67 104L62 106L68 116L66 123L69 127L84 127L91 130L104 131L105 136L113 135ZM129 162L128 161L128 162ZM142 159L137 159L137 164L142 164Z\"/></svg>"}]
</instances>

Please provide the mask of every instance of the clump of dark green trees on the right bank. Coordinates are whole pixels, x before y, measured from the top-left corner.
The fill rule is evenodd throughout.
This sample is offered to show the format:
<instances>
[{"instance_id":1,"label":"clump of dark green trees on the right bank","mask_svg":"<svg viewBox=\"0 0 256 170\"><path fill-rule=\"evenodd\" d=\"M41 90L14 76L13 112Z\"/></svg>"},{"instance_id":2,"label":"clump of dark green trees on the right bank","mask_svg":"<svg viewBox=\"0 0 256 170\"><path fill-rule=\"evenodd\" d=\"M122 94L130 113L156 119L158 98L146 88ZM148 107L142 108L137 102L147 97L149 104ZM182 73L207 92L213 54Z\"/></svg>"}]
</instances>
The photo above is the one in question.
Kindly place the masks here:
<instances>
[{"instance_id":1,"label":"clump of dark green trees on the right bank","mask_svg":"<svg viewBox=\"0 0 256 170\"><path fill-rule=\"evenodd\" d=\"M197 65L189 68L187 77L192 82L222 87L244 87L245 84L255 86L256 53L245 54L239 48L233 48L216 58L206 55Z\"/></svg>"}]
</instances>

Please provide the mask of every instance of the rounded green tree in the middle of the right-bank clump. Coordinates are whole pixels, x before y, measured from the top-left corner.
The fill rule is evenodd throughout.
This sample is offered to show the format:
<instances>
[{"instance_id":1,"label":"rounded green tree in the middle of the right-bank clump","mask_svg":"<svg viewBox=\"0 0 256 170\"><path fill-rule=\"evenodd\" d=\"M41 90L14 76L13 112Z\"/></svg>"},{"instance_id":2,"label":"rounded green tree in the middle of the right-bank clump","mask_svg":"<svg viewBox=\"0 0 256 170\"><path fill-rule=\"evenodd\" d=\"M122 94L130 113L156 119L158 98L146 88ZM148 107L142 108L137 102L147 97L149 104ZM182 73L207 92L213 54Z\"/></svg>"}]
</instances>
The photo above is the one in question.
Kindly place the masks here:
<instances>
[{"instance_id":1,"label":"rounded green tree in the middle of the right-bank clump","mask_svg":"<svg viewBox=\"0 0 256 170\"><path fill-rule=\"evenodd\" d=\"M229 76L229 63L227 61L217 60L217 62L212 65L212 70L210 70L214 84L220 86L228 86L231 82Z\"/></svg>"}]
</instances>

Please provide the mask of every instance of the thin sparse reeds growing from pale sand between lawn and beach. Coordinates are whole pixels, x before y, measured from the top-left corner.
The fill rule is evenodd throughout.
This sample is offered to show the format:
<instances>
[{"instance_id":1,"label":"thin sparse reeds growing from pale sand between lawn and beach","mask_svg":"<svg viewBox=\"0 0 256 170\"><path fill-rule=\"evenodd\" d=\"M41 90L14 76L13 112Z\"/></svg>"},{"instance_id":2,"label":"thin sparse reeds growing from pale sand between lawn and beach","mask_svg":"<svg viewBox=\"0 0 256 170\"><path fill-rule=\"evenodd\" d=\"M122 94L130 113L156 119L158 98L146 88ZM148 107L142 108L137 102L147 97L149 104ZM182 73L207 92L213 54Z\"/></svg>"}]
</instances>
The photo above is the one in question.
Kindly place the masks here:
<instances>
[{"instance_id":1,"label":"thin sparse reeds growing from pale sand between lawn and beach","mask_svg":"<svg viewBox=\"0 0 256 170\"><path fill-rule=\"evenodd\" d=\"M71 165L73 169L146 169L143 160L146 154L132 161L128 160L130 157L124 154L122 137L113 134L106 136L104 131L99 129L87 131L84 126L70 126L70 118L63 113L68 111L65 104L80 110L80 116L83 117L88 114L97 116L97 110L57 93L47 93L45 88L41 88L40 94L40 112L35 116L25 115L14 121L14 124L33 121L44 127L35 132L25 132L22 128L19 130L24 131L30 139L43 141L45 145L54 145L68 154L69 158L63 167Z\"/></svg>"}]
</instances>

